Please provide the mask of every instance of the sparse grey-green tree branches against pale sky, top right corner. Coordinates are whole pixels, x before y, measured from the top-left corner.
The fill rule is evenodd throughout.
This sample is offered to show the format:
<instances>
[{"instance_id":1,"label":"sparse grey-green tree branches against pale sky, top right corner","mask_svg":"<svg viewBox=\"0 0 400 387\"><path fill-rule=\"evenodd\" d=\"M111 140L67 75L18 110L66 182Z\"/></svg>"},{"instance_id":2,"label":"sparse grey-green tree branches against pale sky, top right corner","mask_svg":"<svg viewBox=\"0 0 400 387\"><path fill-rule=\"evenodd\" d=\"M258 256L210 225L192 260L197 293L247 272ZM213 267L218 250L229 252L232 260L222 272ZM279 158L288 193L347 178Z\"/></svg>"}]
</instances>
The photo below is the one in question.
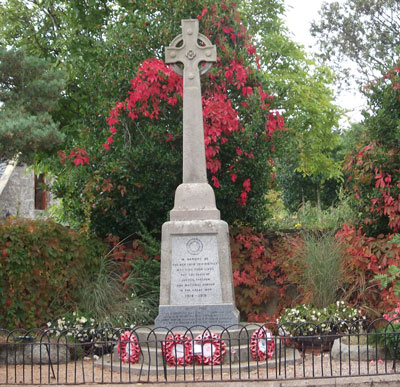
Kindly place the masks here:
<instances>
[{"instance_id":1,"label":"sparse grey-green tree branches against pale sky, top right corner","mask_svg":"<svg viewBox=\"0 0 400 387\"><path fill-rule=\"evenodd\" d=\"M347 0L323 3L321 20L311 33L337 75L346 80L349 60L358 66L358 80L371 80L376 70L395 58L399 45L399 4L396 0Z\"/></svg>"}]
</instances>

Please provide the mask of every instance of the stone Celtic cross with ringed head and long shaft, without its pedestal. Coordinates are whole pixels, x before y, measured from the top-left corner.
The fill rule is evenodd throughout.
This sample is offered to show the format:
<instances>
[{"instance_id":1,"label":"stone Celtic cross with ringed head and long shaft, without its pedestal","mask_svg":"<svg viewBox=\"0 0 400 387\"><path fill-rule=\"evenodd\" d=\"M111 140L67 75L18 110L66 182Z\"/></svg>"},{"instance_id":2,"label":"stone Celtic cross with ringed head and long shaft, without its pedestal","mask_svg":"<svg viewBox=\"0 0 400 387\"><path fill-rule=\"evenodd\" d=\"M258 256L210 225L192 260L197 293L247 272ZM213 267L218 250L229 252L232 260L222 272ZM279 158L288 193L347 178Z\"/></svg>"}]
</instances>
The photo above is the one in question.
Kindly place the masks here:
<instances>
[{"instance_id":1,"label":"stone Celtic cross with ringed head and long shaft, without its pedestal","mask_svg":"<svg viewBox=\"0 0 400 387\"><path fill-rule=\"evenodd\" d=\"M216 60L216 47L199 33L198 20L182 20L182 34L165 49L165 63L183 76L183 183L207 182L200 75ZM206 64L199 68L201 62Z\"/></svg>"}]
</instances>

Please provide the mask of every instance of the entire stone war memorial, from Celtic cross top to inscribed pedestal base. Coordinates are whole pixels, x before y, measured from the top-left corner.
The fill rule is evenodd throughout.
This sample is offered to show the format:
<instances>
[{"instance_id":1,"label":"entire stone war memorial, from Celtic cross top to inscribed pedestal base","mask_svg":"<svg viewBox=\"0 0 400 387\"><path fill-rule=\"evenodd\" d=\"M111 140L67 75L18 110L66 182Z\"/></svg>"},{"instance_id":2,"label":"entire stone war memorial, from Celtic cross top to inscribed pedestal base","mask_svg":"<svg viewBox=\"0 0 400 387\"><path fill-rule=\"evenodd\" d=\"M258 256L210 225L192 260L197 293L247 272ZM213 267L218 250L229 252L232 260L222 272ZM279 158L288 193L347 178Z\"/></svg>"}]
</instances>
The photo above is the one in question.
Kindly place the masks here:
<instances>
[{"instance_id":1,"label":"entire stone war memorial, from Celtic cross top to inscribed pedestal base","mask_svg":"<svg viewBox=\"0 0 400 387\"><path fill-rule=\"evenodd\" d=\"M198 20L183 20L182 32L167 47L166 63L183 75L183 183L176 190L170 221L162 227L155 325L229 327L238 324L239 312L228 225L220 219L207 182L200 88L200 75L216 61L216 48L199 34Z\"/></svg>"}]
</instances>

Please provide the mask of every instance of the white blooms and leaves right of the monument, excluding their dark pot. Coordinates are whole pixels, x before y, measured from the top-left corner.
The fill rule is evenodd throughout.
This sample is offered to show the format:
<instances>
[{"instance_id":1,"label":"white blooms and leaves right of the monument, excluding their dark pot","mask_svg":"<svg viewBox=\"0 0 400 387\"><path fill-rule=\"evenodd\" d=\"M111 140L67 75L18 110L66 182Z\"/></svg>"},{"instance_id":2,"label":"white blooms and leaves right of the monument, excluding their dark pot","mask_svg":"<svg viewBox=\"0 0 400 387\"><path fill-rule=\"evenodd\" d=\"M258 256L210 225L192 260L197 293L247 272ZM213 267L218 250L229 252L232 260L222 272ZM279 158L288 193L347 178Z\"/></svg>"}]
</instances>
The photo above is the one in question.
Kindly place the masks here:
<instances>
[{"instance_id":1,"label":"white blooms and leaves right of the monument, excluding their dark pot","mask_svg":"<svg viewBox=\"0 0 400 387\"><path fill-rule=\"evenodd\" d=\"M291 336L329 335L359 331L365 316L345 301L337 301L326 308L299 304L286 308L277 323Z\"/></svg>"}]
</instances>

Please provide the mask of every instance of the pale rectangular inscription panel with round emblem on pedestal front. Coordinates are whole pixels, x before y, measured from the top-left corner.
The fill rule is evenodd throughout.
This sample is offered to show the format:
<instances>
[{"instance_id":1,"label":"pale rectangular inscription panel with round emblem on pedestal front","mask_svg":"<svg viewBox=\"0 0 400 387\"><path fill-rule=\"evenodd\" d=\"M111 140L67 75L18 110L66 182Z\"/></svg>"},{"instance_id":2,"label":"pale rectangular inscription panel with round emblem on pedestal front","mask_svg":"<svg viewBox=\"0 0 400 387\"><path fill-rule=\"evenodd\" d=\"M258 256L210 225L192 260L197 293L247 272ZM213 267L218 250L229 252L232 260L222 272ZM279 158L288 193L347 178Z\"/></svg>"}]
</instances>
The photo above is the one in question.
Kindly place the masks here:
<instances>
[{"instance_id":1,"label":"pale rectangular inscription panel with round emblem on pedestal front","mask_svg":"<svg viewBox=\"0 0 400 387\"><path fill-rule=\"evenodd\" d=\"M221 303L217 236L172 235L171 305Z\"/></svg>"}]
</instances>

